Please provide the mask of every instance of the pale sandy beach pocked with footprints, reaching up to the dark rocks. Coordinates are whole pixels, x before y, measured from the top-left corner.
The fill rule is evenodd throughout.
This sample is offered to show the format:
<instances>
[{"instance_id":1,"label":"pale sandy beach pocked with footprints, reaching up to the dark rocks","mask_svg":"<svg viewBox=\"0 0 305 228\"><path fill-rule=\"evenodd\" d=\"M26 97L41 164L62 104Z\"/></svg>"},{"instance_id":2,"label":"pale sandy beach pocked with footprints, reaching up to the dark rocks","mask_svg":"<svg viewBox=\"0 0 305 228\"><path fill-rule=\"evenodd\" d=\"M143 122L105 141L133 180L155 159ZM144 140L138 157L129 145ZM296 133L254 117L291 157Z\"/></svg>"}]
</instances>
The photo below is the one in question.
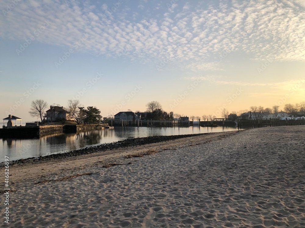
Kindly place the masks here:
<instances>
[{"instance_id":1,"label":"pale sandy beach pocked with footprints, reaching up to the dark rocks","mask_svg":"<svg viewBox=\"0 0 305 228\"><path fill-rule=\"evenodd\" d=\"M305 227L304 133L265 127L14 164L1 225Z\"/></svg>"}]
</instances>

